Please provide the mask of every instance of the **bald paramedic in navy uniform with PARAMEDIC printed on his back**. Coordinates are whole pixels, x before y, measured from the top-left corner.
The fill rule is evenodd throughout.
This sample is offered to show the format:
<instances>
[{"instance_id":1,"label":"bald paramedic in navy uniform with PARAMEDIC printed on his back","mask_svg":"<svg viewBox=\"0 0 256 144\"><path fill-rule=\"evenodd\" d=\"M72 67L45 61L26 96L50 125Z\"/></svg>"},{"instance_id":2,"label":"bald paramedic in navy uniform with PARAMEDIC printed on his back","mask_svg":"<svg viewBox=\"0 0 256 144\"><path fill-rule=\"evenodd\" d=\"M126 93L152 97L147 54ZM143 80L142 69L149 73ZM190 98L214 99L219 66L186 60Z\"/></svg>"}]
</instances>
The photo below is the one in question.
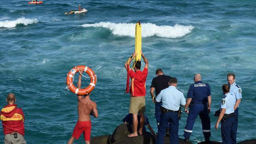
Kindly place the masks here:
<instances>
[{"instance_id":1,"label":"bald paramedic in navy uniform with PARAMEDIC printed on his back","mask_svg":"<svg viewBox=\"0 0 256 144\"><path fill-rule=\"evenodd\" d=\"M202 130L205 141L210 141L211 124L210 124L210 108L211 108L211 90L207 83L203 83L202 76L196 74L194 76L195 83L190 85L187 92L187 102L184 108L188 113L187 124L184 129L185 142L189 142L189 136L193 132L193 125L197 116L200 116L202 122ZM189 110L187 109L189 107Z\"/></svg>"}]
</instances>

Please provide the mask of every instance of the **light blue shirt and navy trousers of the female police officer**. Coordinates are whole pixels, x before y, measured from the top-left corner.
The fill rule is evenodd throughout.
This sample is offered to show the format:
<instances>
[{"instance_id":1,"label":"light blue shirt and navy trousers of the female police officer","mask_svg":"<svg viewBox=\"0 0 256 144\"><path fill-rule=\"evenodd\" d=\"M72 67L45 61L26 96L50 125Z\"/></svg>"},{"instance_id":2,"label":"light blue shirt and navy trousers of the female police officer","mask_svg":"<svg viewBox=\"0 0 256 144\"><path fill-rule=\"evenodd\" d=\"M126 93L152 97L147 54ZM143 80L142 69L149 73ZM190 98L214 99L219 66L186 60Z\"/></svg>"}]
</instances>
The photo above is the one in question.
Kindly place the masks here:
<instances>
[{"instance_id":1,"label":"light blue shirt and navy trousers of the female police officer","mask_svg":"<svg viewBox=\"0 0 256 144\"><path fill-rule=\"evenodd\" d=\"M226 119L223 118L221 120L221 138L223 144L231 144L236 137L232 137L232 129L235 127L235 113L234 113L234 105L236 104L236 97L232 94L224 94L223 99L221 101L221 109L226 109ZM233 144L233 143L232 143Z\"/></svg>"}]
</instances>

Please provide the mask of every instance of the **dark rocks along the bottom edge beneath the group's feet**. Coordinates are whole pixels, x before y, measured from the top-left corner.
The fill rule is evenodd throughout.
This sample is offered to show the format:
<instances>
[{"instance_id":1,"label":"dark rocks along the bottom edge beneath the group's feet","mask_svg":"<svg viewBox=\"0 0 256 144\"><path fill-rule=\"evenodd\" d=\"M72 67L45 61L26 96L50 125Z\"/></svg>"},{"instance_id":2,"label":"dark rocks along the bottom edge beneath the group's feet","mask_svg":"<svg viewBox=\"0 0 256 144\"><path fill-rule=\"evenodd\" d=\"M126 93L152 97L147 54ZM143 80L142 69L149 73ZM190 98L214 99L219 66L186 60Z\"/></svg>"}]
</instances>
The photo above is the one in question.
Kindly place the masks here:
<instances>
[{"instance_id":1,"label":"dark rocks along the bottom edge beneath the group's feet","mask_svg":"<svg viewBox=\"0 0 256 144\"><path fill-rule=\"evenodd\" d=\"M133 132L132 125L120 124L117 126L112 135L103 135L93 137L91 144L155 144L155 137L149 133L144 132L143 135L137 137L127 137ZM170 137L164 138L164 144L170 144ZM185 142L180 138L179 144L192 144L191 142ZM198 144L221 144L221 142L199 142ZM237 144L256 144L256 139L244 140Z\"/></svg>"}]
</instances>

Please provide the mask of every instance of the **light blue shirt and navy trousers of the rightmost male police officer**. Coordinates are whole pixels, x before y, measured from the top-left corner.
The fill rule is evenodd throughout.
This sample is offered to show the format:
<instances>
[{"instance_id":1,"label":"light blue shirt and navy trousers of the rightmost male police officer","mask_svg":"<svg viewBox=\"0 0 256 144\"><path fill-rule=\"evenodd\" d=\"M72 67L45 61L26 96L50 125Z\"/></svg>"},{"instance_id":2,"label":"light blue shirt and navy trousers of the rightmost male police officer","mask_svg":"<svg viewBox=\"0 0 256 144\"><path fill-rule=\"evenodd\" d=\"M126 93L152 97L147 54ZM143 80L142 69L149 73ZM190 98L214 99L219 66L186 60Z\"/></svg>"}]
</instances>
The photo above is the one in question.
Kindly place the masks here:
<instances>
[{"instance_id":1,"label":"light blue shirt and navy trousers of the rightmost male police officer","mask_svg":"<svg viewBox=\"0 0 256 144\"><path fill-rule=\"evenodd\" d=\"M230 85L230 94L233 94L234 96L236 96L236 100L241 99L242 98L241 87L239 87L239 85L237 85L236 83L233 83L232 85ZM236 144L236 132L237 132L237 125L238 125L238 107L235 110L235 114L236 114L235 126L233 127L233 130L231 133L231 137L234 137L232 138L232 144Z\"/></svg>"}]
</instances>

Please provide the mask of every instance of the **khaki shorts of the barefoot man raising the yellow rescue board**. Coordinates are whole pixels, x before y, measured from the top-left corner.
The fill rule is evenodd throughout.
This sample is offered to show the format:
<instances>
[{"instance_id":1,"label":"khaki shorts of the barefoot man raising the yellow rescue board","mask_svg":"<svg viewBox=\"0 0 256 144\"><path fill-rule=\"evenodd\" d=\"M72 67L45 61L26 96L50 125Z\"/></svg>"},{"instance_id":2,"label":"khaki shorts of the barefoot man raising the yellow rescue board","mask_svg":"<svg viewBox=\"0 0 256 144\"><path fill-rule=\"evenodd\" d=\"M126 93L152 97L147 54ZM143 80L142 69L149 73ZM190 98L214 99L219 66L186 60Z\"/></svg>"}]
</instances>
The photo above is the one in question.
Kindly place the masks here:
<instances>
[{"instance_id":1,"label":"khaki shorts of the barefoot man raising the yellow rescue board","mask_svg":"<svg viewBox=\"0 0 256 144\"><path fill-rule=\"evenodd\" d=\"M131 97L129 113L141 114L141 113L145 112L145 109L146 109L145 96L132 96Z\"/></svg>"}]
</instances>

